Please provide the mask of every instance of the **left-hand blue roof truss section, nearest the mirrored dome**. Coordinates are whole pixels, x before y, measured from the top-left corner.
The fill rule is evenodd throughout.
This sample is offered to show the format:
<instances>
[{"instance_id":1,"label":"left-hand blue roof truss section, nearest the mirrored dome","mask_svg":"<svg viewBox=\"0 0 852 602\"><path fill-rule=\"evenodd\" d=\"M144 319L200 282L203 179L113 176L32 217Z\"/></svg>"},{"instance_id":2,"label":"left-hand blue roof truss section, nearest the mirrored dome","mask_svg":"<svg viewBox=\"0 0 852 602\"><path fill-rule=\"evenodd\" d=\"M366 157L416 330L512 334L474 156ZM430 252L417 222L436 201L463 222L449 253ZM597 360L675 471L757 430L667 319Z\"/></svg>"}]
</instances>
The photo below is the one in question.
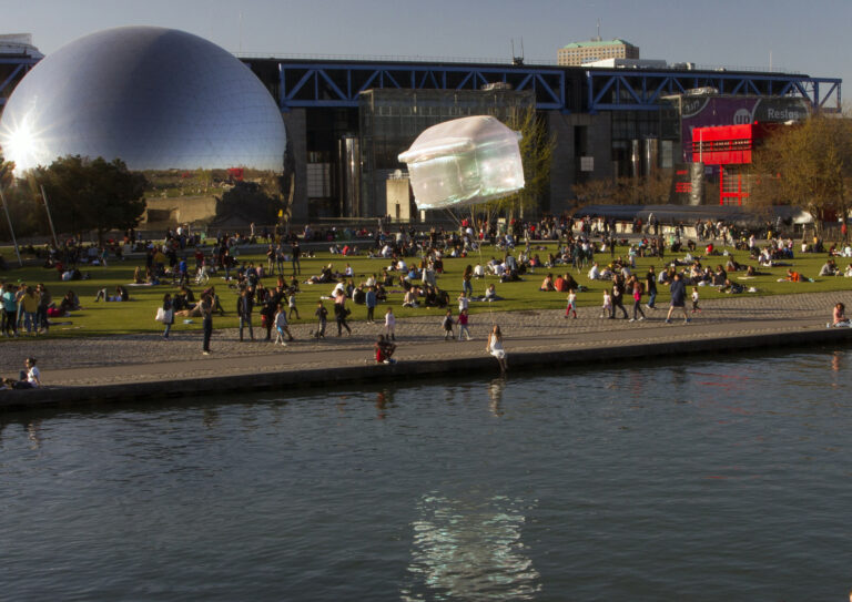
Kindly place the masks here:
<instances>
[{"instance_id":1,"label":"left-hand blue roof truss section, nearest the mirrored dome","mask_svg":"<svg viewBox=\"0 0 852 602\"><path fill-rule=\"evenodd\" d=\"M566 110L566 72L527 67L278 63L282 111L296 106L357 106L371 89L481 90L493 83L531 90L539 109Z\"/></svg>"}]
</instances>

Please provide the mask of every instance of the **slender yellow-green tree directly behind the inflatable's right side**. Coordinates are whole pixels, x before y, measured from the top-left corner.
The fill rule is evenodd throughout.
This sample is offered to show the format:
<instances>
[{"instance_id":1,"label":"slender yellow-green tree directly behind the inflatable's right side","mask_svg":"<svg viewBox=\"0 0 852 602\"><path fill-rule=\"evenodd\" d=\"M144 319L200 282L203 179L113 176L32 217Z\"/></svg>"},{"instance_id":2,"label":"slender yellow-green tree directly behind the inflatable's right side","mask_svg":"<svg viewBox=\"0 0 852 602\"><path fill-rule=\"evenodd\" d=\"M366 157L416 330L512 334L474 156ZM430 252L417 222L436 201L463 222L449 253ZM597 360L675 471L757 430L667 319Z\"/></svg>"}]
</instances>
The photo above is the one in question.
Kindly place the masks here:
<instances>
[{"instance_id":1,"label":"slender yellow-green tree directly behind the inflatable's right side","mask_svg":"<svg viewBox=\"0 0 852 602\"><path fill-rule=\"evenodd\" d=\"M539 206L541 196L550 185L550 165L554 160L556 135L547 132L547 124L535 106L514 109L505 120L506 125L519 131L520 160L524 164L524 188L489 203L496 211L509 216Z\"/></svg>"}]
</instances>

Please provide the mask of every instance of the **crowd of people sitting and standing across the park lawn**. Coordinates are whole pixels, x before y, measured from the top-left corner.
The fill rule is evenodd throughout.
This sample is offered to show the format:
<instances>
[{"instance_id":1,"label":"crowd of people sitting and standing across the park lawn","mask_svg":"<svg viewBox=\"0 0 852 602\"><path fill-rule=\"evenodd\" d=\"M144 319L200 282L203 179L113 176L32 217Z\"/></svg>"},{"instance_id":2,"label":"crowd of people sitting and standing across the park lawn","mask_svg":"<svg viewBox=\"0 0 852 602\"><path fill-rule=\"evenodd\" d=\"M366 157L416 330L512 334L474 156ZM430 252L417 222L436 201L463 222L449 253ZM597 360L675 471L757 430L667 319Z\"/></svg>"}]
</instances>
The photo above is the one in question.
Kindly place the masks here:
<instances>
[{"instance_id":1,"label":"crowd of people sitting and standing across the park lawn","mask_svg":"<svg viewBox=\"0 0 852 602\"><path fill-rule=\"evenodd\" d=\"M565 318L578 318L579 296L588 290L579 284L575 274L587 272L590 280L606 283L601 317L629 322L647 318L646 309L656 308L658 286L668 287L670 306L666 322L672 315L682 314L689 323L688 298L692 302L691 314L701 312L699 305L700 287L711 286L726 293L743 293L746 287L731 279L732 273L744 278L761 275L761 267L785 265L794 256L794 244L790 238L770 236L758 241L751 234L734 239L733 228L714 222L699 222L694 225L697 241L686 238L683 227L669 228L660 233L659 223L651 220L647 224L636 222L631 231L639 236L630 239L619 238L615 223L607 220L584 218L579 223L568 218L548 217L539 222L513 221L505 227L496 222L474 223L463 221L458 228L443 229L433 227L428 232L416 232L413 226L400 227L390 232L379 224L374 232L352 229L336 232L334 228L317 233L305 227L302 241L298 236L271 236L267 232L248 236L220 235L213 244L204 244L201 233L182 226L170 232L161 243L143 243L130 232L124 245L83 245L79 241L69 241L61 248L50 247L45 266L55 268L62 280L84 279L81 267L106 266L112 261L123 261L126 253L122 248L144 253L144 266L135 267L133 282L119 285L114 289L101 288L94 303L126 303L131 300L133 286L172 286L174 290L163 295L158 308L156 319L163 324L162 337L169 339L178 318L201 318L203 344L202 353L211 353L211 337L214 315L226 315L220 294L211 278L222 278L227 290L235 294L234 310L239 318L239 340L266 340L287 346L294 340L290 328L291 320L302 319L298 310L298 296L305 285L333 285L331 292L317 295L313 314L308 310L307 319L315 320L311 336L325 338L329 309L336 324L336 335L351 336L352 314L348 304L366 308L367 324L383 323L384 334L376 343L376 360L390 363L395 349L396 316L390 303L399 299L403 307L440 308L445 310L442 330L446 340L470 340L471 318L469 306L477 302L496 302L503 298L497 286L523 282L538 269L541 273L539 290L542 293L565 294ZM621 228L621 233L625 228ZM342 237L344 241L338 242ZM749 251L749 258L757 265L739 264L732 255L716 247L716 241L734 244ZM265 264L241 258L245 244L265 246ZM312 252L303 251L304 242L327 239L333 253L339 254L337 266L328 263L313 275L302 274L302 259ZM544 246L546 242L556 242ZM490 258L485 259L483 251L489 248ZM802 253L822 249L821 241L803 244ZM623 253L619 254L619 249ZM822 249L824 252L824 249ZM838 268L833 257L845 255L845 247L832 247L820 276L841 275L852 277L852 264L845 273ZM381 271L356 275L353 263L357 257L366 256L384 259ZM637 272L637 259L653 257L659 259L659 271L653 265L647 272ZM448 286L442 282L445 262L465 259L465 268L458 296L458 310L454 314ZM655 262L657 263L657 262ZM355 264L357 265L357 264ZM458 265L458 264L456 264ZM544 271L548 272L545 274ZM273 278L274 284L268 283ZM483 294L475 295L473 283L486 279ZM800 273L788 271L791 282L804 282ZM539 282L536 278L536 282ZM193 293L193 286L201 286L201 293ZM690 293L691 287L691 293ZM327 290L327 289L326 289ZM396 297L393 294L399 296ZM316 298L316 297L315 297ZM43 284L28 286L23 283L7 283L0 286L0 299L3 304L2 327L4 336L19 336L27 333L32 336L47 333L51 317L67 316L80 309L77 295L69 290L57 303ZM646 303L647 299L647 303ZM328 306L326 306L326 302ZM376 308L387 305L382 317L376 317ZM628 310L627 304L630 304ZM229 305L229 304L225 304ZM260 316L260 324L255 324ZM581 314L579 314L581 317ZM834 320L836 323L836 320ZM257 336L255 326L260 327ZM488 350L506 369L505 350L499 328L488 336Z\"/></svg>"}]
</instances>

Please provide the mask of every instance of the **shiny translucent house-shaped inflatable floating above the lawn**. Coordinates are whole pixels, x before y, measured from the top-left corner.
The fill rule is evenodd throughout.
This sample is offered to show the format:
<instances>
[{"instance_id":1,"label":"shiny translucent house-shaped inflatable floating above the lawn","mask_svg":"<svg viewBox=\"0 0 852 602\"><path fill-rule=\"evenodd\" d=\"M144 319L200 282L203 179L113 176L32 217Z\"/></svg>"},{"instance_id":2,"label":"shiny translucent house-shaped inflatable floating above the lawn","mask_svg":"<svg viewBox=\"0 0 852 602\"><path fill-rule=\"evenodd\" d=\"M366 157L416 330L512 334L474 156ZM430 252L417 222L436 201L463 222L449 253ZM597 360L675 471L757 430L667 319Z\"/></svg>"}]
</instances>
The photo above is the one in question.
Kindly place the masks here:
<instances>
[{"instance_id":1,"label":"shiny translucent house-shaped inflatable floating above the lawn","mask_svg":"<svg viewBox=\"0 0 852 602\"><path fill-rule=\"evenodd\" d=\"M520 133L487 115L425 130L399 155L408 164L419 210L473 205L524 187Z\"/></svg>"}]
</instances>

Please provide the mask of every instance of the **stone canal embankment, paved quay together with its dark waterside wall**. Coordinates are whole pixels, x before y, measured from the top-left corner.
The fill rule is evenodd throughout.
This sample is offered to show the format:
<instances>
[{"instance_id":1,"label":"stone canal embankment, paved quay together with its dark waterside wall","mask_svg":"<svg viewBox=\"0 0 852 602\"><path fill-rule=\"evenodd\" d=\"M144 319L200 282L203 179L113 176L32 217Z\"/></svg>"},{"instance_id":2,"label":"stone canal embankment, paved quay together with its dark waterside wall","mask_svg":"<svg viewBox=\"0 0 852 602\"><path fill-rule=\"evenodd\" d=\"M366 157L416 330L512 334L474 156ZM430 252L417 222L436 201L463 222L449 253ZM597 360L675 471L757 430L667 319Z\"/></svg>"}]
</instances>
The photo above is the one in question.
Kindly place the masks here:
<instances>
[{"instance_id":1,"label":"stone canal embankment, paved quay together with its dark waterside wall","mask_svg":"<svg viewBox=\"0 0 852 602\"><path fill-rule=\"evenodd\" d=\"M214 354L205 357L200 356L194 331L178 333L169 341L154 334L9 341L0 351L6 365L20 363L13 357L37 355L48 386L0 392L0 410L338 385L357 389L366 381L404 384L453 373L487 377L498 373L496 360L485 351L491 323L504 330L513 375L556 366L595 369L633 360L729 357L751 349L844 348L852 341L852 328L825 327L838 300L849 303L852 294L738 296L708 302L689 325L682 319L665 324L662 309L646 309L648 319L636 323L600 319L597 308L584 308L577 320L564 319L561 312L480 314L473 325L475 340L450 343L442 340L434 317L414 318L399 325L399 361L389 366L371 359L382 327L363 323L355 325L352 337L322 341L310 338L311 325L301 325L295 328L300 340L286 348L265 341L240 344L235 331L217 331Z\"/></svg>"}]
</instances>

